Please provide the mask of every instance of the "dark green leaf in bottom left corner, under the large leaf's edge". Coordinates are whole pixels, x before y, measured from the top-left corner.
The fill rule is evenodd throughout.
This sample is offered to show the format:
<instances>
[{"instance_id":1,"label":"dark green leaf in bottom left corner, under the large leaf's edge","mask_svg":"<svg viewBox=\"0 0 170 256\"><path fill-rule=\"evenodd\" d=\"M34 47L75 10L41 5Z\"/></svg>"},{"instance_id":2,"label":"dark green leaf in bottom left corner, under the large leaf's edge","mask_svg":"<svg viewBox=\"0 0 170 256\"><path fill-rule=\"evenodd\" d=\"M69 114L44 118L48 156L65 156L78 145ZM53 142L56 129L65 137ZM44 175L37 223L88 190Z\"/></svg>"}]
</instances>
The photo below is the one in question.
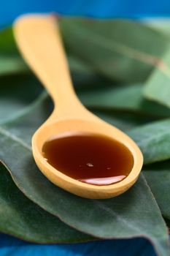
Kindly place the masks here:
<instances>
[{"instance_id":1,"label":"dark green leaf in bottom left corner, under the large leaf's edge","mask_svg":"<svg viewBox=\"0 0 170 256\"><path fill-rule=\"evenodd\" d=\"M36 243L74 243L91 236L65 225L28 200L0 163L0 231Z\"/></svg>"}]
</instances>

